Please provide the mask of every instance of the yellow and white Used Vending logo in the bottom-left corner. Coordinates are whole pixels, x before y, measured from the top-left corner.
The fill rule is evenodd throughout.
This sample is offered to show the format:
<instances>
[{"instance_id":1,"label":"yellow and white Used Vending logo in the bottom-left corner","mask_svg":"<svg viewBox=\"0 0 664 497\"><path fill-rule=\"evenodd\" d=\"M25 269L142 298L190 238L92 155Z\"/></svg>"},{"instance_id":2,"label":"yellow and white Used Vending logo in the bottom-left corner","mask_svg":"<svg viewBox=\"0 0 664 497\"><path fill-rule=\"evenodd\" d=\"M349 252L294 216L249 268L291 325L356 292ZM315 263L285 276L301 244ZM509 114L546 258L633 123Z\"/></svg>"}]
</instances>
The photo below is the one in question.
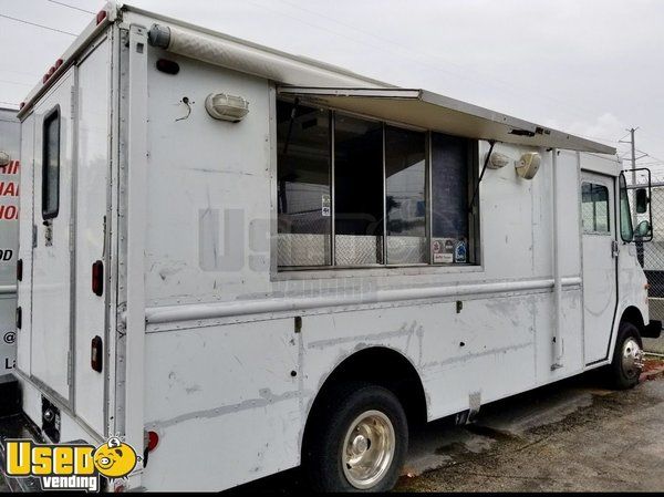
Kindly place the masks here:
<instances>
[{"instance_id":1,"label":"yellow and white Used Vending logo in the bottom-left corner","mask_svg":"<svg viewBox=\"0 0 664 497\"><path fill-rule=\"evenodd\" d=\"M42 489L100 490L100 475L126 477L139 460L136 451L118 437L94 445L42 445L30 439L6 442L7 476L33 476Z\"/></svg>"}]
</instances>

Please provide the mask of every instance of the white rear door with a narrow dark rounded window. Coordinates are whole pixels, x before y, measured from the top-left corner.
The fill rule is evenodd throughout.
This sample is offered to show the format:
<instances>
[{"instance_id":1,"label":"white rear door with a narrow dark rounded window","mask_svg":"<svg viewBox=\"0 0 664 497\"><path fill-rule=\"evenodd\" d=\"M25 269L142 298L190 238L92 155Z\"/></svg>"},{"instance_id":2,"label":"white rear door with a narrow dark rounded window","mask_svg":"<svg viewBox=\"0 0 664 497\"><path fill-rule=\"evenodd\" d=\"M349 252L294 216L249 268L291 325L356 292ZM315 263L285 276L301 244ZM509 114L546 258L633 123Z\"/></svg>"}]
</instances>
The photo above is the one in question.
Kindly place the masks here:
<instances>
[{"instance_id":1,"label":"white rear door with a narrow dark rounded window","mask_svg":"<svg viewBox=\"0 0 664 497\"><path fill-rule=\"evenodd\" d=\"M71 402L72 66L35 106L32 377Z\"/></svg>"}]
</instances>

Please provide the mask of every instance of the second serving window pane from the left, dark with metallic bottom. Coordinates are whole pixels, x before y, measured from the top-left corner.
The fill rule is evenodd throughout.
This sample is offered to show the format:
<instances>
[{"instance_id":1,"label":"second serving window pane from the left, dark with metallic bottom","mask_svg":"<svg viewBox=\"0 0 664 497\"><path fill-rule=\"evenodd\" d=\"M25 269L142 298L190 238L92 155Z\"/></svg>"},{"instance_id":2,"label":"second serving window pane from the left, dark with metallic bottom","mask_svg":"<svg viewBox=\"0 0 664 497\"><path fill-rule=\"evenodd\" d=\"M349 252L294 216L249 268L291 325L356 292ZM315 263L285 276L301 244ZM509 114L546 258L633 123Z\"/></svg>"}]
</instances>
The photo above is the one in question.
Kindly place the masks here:
<instances>
[{"instance_id":1,"label":"second serving window pane from the left, dark with metallic bottom","mask_svg":"<svg viewBox=\"0 0 664 497\"><path fill-rule=\"evenodd\" d=\"M335 265L383 263L383 125L334 122Z\"/></svg>"}]
</instances>

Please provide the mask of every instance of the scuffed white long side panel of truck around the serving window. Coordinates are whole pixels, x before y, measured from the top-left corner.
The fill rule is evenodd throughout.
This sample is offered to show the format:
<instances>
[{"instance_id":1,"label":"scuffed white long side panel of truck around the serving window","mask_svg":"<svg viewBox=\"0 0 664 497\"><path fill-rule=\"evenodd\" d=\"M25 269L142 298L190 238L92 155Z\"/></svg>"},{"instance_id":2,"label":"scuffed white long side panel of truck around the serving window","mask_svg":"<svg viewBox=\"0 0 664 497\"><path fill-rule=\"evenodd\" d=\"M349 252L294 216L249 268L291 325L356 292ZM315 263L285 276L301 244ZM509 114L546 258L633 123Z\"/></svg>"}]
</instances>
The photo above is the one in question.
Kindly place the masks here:
<instances>
[{"instance_id":1,"label":"scuffed white long side panel of truck around the serving window","mask_svg":"<svg viewBox=\"0 0 664 497\"><path fill-rule=\"evenodd\" d=\"M179 73L156 71L160 58ZM217 92L249 101L248 116L212 120L204 103ZM203 463L186 485L198 489L295 466L318 391L365 348L395 350L415 366L429 420L582 371L575 154L558 175L567 200L559 232L564 361L551 371L551 152L535 149L542 166L532 182L511 167L486 173L481 266L276 273L269 83L149 46L148 95L145 422L160 443L142 475L146 488L184 488L176 469L191 457ZM456 294L464 286L476 291ZM416 298L421 289L434 297ZM395 291L405 298L383 297ZM334 303L349 296L354 303ZM312 306L317 299L328 303ZM247 310L257 302L263 310ZM185 317L207 306L238 311ZM164 309L172 318L152 322Z\"/></svg>"}]
</instances>

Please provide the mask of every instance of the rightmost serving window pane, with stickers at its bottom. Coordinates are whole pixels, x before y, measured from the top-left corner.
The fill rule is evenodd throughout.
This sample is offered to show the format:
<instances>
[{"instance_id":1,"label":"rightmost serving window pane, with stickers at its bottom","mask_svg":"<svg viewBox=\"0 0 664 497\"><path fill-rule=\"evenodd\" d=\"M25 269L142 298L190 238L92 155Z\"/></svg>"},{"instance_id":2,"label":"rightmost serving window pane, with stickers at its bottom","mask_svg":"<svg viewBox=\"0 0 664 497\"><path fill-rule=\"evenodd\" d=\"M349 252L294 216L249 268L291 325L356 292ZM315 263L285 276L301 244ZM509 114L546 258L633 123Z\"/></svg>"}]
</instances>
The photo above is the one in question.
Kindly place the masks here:
<instances>
[{"instance_id":1,"label":"rightmost serving window pane, with stickers at its bottom","mask_svg":"<svg viewBox=\"0 0 664 497\"><path fill-rule=\"evenodd\" d=\"M434 263L473 262L468 249L468 176L476 142L432 133L432 253Z\"/></svg>"}]
</instances>

